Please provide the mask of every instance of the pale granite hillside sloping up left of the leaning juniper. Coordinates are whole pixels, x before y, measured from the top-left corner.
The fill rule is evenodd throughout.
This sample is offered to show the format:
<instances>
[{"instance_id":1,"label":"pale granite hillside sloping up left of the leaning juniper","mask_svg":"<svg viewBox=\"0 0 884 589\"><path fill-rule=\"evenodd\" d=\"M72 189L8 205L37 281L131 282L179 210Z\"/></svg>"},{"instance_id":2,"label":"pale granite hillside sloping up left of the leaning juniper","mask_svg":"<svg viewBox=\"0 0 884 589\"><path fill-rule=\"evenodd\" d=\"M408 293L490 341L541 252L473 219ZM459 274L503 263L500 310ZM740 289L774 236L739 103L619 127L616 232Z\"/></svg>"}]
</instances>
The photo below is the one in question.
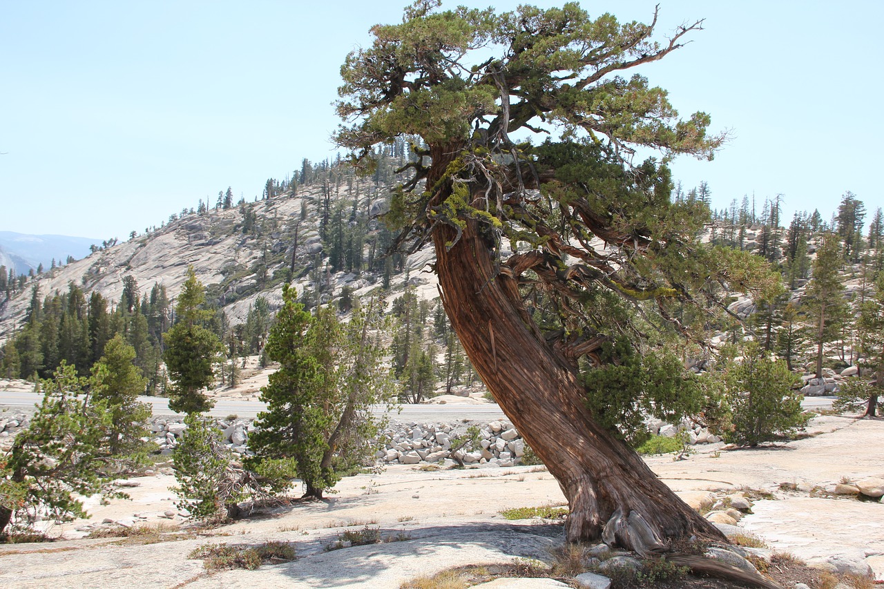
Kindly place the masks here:
<instances>
[{"instance_id":1,"label":"pale granite hillside sloping up left of the leaning juniper","mask_svg":"<svg viewBox=\"0 0 884 589\"><path fill-rule=\"evenodd\" d=\"M331 191L333 195L329 195ZM385 206L384 193L384 188L371 180L351 178L337 187L316 183L298 187L296 194L287 191L256 203L240 202L228 209L190 212L180 218L173 215L155 231L98 249L29 281L23 292L0 306L0 344L26 316L34 285L41 300L54 291L64 292L73 282L87 296L97 291L118 301L124 279L132 277L142 294L157 283L174 297L186 278L187 266L193 265L209 300L225 310L232 325L245 321L249 306L259 296L275 310L289 276L299 292L316 289L320 283L322 302L338 296L344 286L363 295L376 287L381 277L371 269L358 277L353 272L331 272L328 252L324 251L329 246L319 236L321 209L355 203L358 212L367 216ZM346 210L345 215L352 212ZM377 220L366 227L363 256L383 253L378 227ZM431 274L420 272L429 261L431 252L419 252L400 268L394 267L391 286L400 287L408 276L418 287L419 296L437 296Z\"/></svg>"}]
</instances>

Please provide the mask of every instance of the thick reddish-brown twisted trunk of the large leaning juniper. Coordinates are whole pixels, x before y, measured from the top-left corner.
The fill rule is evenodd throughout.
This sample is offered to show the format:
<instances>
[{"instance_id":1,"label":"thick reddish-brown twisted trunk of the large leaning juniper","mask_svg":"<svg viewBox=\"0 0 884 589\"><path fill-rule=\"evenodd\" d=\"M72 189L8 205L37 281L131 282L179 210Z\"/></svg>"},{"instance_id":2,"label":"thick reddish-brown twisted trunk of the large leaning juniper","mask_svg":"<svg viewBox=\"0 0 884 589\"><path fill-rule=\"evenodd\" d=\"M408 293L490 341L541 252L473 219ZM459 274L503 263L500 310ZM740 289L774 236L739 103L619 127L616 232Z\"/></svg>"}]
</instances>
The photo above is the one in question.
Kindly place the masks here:
<instances>
[{"instance_id":1,"label":"thick reddish-brown twisted trunk of the large leaning juniper","mask_svg":"<svg viewBox=\"0 0 884 589\"><path fill-rule=\"evenodd\" d=\"M496 272L477 223L468 221L448 249L453 239L453 229L434 229L446 313L500 408L559 480L568 540L603 539L639 554L694 534L726 541L593 421L575 369L535 335L515 279Z\"/></svg>"}]
</instances>

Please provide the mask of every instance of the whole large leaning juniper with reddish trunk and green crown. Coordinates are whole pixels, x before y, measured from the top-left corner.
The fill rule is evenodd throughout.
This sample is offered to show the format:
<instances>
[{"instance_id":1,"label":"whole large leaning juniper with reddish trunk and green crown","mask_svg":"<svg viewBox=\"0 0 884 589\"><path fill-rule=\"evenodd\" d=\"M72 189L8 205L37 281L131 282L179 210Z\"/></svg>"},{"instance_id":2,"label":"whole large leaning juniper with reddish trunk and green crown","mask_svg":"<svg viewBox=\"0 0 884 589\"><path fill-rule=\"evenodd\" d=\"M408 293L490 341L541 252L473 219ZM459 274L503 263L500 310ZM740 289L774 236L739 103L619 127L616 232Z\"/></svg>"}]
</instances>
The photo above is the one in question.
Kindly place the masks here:
<instances>
[{"instance_id":1,"label":"whole large leaning juniper with reddish trunk and green crown","mask_svg":"<svg viewBox=\"0 0 884 589\"><path fill-rule=\"evenodd\" d=\"M661 43L656 13L644 25L590 19L574 3L438 6L419 0L347 56L336 141L370 167L377 145L421 138L387 221L401 250L435 247L451 324L559 480L568 539L643 554L692 534L723 540L624 440L641 409L665 411L690 381L587 394L621 355L641 356L669 332L690 337L720 307L719 283L749 289L751 274L770 276L750 256L706 247L702 209L670 202L667 160L711 159L725 137L707 134L705 113L678 119L644 77L619 75L679 49L702 22ZM556 140L513 139L545 131ZM639 148L661 159L632 164Z\"/></svg>"}]
</instances>

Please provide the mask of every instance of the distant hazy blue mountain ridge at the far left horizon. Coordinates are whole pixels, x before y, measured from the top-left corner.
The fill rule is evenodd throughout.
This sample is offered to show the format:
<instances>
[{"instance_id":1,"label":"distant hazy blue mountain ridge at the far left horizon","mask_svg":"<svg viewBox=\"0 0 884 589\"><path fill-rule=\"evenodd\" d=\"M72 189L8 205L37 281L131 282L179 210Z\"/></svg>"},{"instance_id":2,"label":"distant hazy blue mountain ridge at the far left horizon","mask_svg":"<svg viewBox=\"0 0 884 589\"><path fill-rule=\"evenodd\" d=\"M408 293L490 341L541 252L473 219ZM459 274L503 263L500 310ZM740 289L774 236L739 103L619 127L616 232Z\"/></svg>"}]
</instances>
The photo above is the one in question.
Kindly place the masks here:
<instances>
[{"instance_id":1,"label":"distant hazy blue mountain ridge at the far left horizon","mask_svg":"<svg viewBox=\"0 0 884 589\"><path fill-rule=\"evenodd\" d=\"M89 237L70 235L31 235L13 231L0 231L0 265L14 269L16 274L27 274L40 264L48 269L52 258L56 263L67 260L67 256L80 259L89 255L89 246L101 243Z\"/></svg>"}]
</instances>

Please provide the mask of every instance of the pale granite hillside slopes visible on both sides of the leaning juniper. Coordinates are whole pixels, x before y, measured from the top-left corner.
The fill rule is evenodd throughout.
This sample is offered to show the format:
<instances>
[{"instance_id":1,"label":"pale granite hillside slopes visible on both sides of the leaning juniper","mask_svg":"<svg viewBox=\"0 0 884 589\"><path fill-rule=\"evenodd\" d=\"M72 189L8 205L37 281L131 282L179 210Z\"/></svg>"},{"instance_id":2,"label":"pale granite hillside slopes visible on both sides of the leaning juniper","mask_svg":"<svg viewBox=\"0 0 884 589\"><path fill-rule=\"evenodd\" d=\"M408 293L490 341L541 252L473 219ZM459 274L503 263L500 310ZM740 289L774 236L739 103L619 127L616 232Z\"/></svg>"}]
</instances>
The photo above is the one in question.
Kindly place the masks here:
<instances>
[{"instance_id":1,"label":"pale granite hillside slopes visible on both sides of the leaning juniper","mask_svg":"<svg viewBox=\"0 0 884 589\"><path fill-rule=\"evenodd\" d=\"M436 299L436 278L428 268L432 249L407 259L382 259L392 235L374 216L387 206L394 180L389 171L397 167L397 160L393 157L382 164L387 173L372 178L359 178L346 165L338 165L311 172L310 181L297 186L284 183L274 187L268 180L261 201L222 204L219 195L213 209L201 205L198 211L182 210L180 215L171 215L164 226L133 235L128 241L105 242L91 255L43 272L11 298L0 300L0 345L22 325L34 287L41 301L54 292L65 292L73 283L87 298L98 292L110 302L118 302L126 283L131 285L134 280L141 295L159 284L173 299L186 279L188 266L194 267L207 288L209 301L224 310L227 326L245 322L258 297L268 302L271 313L275 311L281 303L282 285L289 280L314 303L335 301L345 294L345 287L360 296L385 285L391 288L387 302L392 304L406 284L416 287L419 300ZM752 222L735 228L733 221L729 223L717 218L706 239L755 251L779 264L793 287L782 306L790 302L800 315L820 233L809 226L796 233L794 221L789 229ZM599 247L604 247L600 241ZM800 256L789 254L790 249ZM342 263L343 257L347 257L347 264ZM841 276L843 296L850 304L871 292L871 280L860 264L843 266ZM710 333L715 348L762 327L756 302L739 293L733 293L732 301L728 309L745 323L718 325L719 331ZM806 320L797 317L796 322ZM781 325L774 325L768 331L779 329ZM831 393L837 384L834 377L856 363L857 348L850 340L855 336L844 335L845 340L827 343L830 373L827 379L807 380L808 393ZM808 340L805 337L803 349L790 358L797 370L807 368L811 353ZM702 370L702 364L697 370Z\"/></svg>"}]
</instances>

